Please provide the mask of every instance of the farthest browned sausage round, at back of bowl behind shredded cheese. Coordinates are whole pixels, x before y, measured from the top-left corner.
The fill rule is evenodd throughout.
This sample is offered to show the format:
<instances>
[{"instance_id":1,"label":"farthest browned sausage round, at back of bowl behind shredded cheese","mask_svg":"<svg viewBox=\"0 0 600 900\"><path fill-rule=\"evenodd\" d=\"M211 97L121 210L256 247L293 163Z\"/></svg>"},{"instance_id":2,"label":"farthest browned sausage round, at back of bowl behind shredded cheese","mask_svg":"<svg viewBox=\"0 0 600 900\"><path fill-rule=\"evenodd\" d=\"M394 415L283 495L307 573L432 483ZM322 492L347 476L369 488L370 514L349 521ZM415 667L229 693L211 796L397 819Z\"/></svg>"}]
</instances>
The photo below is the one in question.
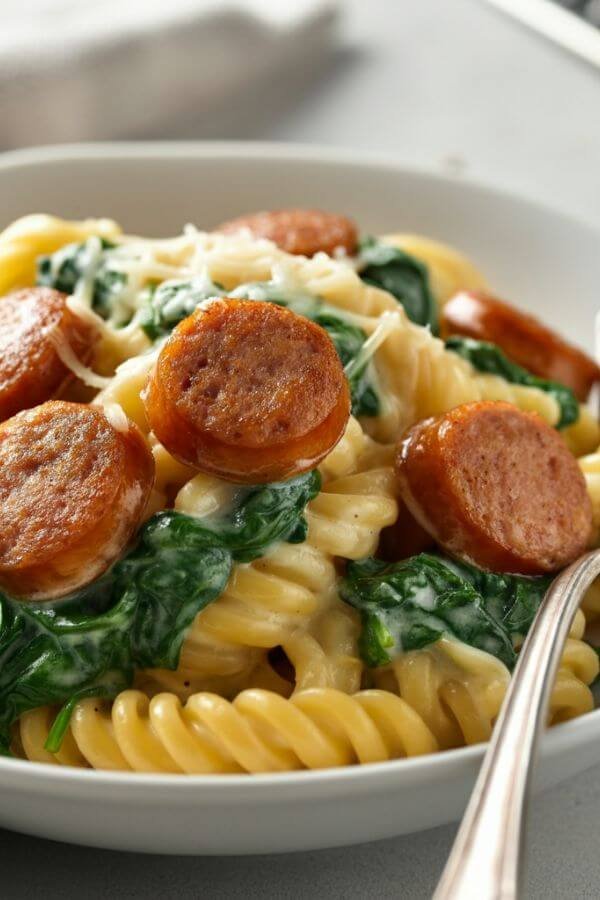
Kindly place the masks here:
<instances>
[{"instance_id":1,"label":"farthest browned sausage round, at back of bowl behind shredded cheese","mask_svg":"<svg viewBox=\"0 0 600 900\"><path fill-rule=\"evenodd\" d=\"M352 254L358 243L356 225L346 216L319 209L273 209L251 213L223 222L215 231L237 234L248 229L254 237L267 238L299 256L314 256L322 251L330 256L342 248Z\"/></svg>"}]
</instances>

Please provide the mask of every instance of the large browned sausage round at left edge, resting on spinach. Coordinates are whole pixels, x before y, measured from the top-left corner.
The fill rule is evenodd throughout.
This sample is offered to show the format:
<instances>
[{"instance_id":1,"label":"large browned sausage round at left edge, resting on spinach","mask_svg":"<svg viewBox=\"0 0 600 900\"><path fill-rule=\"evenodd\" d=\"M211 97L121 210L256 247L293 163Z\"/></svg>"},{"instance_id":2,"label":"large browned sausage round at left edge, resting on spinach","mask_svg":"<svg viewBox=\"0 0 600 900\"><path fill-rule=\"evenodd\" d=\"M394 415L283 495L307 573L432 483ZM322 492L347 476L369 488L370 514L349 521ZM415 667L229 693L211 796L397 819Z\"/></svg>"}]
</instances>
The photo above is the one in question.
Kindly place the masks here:
<instances>
[{"instance_id":1,"label":"large browned sausage round at left edge, resting on spinach","mask_svg":"<svg viewBox=\"0 0 600 900\"><path fill-rule=\"evenodd\" d=\"M52 400L0 425L0 585L42 600L93 581L137 528L154 480L146 441L100 407Z\"/></svg>"}]
</instances>

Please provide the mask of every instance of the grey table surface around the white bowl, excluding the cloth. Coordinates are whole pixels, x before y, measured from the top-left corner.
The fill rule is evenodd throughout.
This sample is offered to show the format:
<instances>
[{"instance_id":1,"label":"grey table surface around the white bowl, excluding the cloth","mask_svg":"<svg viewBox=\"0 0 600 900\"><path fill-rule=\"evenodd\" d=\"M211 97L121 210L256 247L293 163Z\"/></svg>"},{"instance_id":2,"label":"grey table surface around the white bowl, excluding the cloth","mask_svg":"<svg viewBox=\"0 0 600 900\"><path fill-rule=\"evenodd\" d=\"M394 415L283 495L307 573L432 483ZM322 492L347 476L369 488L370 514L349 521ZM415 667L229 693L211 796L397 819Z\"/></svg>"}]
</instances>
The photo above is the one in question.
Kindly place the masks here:
<instances>
[{"instance_id":1,"label":"grey table surface around the white bowl, excluding the cloth","mask_svg":"<svg viewBox=\"0 0 600 900\"><path fill-rule=\"evenodd\" d=\"M350 146L504 185L600 225L598 72L480 0L352 0L343 47L217 132L162 137ZM359 214L359 211L357 211ZM599 749L600 759L600 749ZM91 811L93 814L93 811ZM524 896L600 896L600 766L533 803ZM347 850L138 856L0 833L0 894L54 897L430 896L454 827Z\"/></svg>"}]
</instances>

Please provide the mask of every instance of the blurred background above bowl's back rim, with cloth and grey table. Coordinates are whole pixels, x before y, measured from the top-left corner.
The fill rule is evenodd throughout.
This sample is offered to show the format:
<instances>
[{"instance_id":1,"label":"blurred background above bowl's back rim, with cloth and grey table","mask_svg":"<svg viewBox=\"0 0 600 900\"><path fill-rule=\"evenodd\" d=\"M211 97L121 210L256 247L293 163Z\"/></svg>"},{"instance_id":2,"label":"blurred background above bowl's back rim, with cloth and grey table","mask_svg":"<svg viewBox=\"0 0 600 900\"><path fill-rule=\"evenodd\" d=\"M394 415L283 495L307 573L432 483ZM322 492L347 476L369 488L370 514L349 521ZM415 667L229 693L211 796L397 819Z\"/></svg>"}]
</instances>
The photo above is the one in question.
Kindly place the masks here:
<instances>
[{"instance_id":1,"label":"blurred background above bowl's back rim, with cloth and grey table","mask_svg":"<svg viewBox=\"0 0 600 900\"><path fill-rule=\"evenodd\" d=\"M1 150L321 143L600 223L600 0L0 2Z\"/></svg>"}]
</instances>

